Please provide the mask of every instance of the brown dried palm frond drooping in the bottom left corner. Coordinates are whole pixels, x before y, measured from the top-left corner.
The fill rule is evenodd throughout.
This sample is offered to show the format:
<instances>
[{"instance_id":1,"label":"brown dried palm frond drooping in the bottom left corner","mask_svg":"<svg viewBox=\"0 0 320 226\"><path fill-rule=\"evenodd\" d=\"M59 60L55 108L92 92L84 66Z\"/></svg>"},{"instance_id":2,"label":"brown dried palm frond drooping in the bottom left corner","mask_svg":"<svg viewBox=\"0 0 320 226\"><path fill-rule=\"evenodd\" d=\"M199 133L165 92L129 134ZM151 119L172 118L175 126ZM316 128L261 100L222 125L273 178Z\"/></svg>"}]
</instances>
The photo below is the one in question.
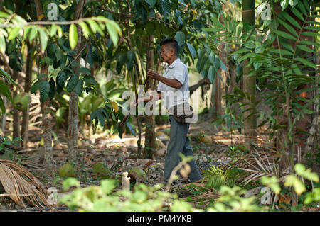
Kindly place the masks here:
<instances>
[{"instance_id":1,"label":"brown dried palm frond drooping in the bottom left corner","mask_svg":"<svg viewBox=\"0 0 320 226\"><path fill-rule=\"evenodd\" d=\"M48 193L41 182L19 164L0 159L0 184L21 208L27 208L26 203L37 208L51 207L47 201Z\"/></svg>"}]
</instances>

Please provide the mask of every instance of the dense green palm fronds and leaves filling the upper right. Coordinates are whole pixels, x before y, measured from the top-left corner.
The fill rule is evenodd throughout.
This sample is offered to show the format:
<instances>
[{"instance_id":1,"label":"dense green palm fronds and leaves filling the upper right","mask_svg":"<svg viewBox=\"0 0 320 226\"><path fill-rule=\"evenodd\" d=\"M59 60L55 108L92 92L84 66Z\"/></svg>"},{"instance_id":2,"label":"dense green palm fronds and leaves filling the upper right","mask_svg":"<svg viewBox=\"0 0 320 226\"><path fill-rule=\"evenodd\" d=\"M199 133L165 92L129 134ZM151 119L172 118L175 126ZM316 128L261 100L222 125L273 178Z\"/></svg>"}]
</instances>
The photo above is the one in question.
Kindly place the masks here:
<instances>
[{"instance_id":1,"label":"dense green palm fronds and leaves filling the upper right","mask_svg":"<svg viewBox=\"0 0 320 226\"><path fill-rule=\"evenodd\" d=\"M314 1L282 1L282 9L285 10L279 11L277 15L274 9L277 6L272 5L272 20L257 21L255 26L236 21L230 15L221 16L221 23L213 16L211 21L214 26L203 29L210 34L207 37L212 50L220 43L226 43L230 52L228 60L234 60L240 66L247 60L247 67L253 66L248 76L257 77L257 89L267 88L262 100L257 100L255 96L250 96L237 87L234 94L225 98L229 108L240 106L240 116L250 110L252 113L247 117L262 117L262 123L258 127L269 125L272 130L271 138L284 135L284 139L277 137L282 140L282 153L294 149L297 133L301 135L308 132L298 128L297 122L317 111L311 110L311 106L319 98L319 94L312 98L303 95L304 92L311 93L319 89L319 68L314 61L319 55L319 43L316 41L319 38L319 22L315 21L319 14L311 11L314 9L311 5L314 5ZM238 45L236 49L235 45ZM198 64L202 63L199 60ZM265 103L272 109L271 115L256 110L260 103ZM225 115L223 120L216 123L229 122L229 125L242 127L242 120L245 118L233 111L229 113L230 115ZM286 118L285 122L277 120L282 116ZM288 132L282 133L284 129ZM291 152L289 164L292 166L293 158Z\"/></svg>"}]
</instances>

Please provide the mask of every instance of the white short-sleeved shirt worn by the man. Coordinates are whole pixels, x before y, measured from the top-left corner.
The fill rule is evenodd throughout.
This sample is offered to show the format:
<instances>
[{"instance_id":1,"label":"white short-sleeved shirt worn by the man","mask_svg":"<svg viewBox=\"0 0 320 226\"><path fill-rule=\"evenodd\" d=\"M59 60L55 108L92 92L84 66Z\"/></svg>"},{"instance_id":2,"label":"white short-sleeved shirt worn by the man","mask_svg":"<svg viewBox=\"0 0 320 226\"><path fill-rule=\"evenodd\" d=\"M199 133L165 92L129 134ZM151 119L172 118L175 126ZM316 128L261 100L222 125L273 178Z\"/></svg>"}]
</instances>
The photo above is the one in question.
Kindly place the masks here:
<instances>
[{"instance_id":1,"label":"white short-sleeved shirt worn by the man","mask_svg":"<svg viewBox=\"0 0 320 226\"><path fill-rule=\"evenodd\" d=\"M186 64L183 64L179 58L177 58L172 64L164 67L163 77L168 79L176 79L180 81L182 86L180 89L176 89L159 81L157 91L161 91L164 96L164 106L166 109L170 109L173 106L189 103L189 84L188 84L188 69Z\"/></svg>"}]
</instances>

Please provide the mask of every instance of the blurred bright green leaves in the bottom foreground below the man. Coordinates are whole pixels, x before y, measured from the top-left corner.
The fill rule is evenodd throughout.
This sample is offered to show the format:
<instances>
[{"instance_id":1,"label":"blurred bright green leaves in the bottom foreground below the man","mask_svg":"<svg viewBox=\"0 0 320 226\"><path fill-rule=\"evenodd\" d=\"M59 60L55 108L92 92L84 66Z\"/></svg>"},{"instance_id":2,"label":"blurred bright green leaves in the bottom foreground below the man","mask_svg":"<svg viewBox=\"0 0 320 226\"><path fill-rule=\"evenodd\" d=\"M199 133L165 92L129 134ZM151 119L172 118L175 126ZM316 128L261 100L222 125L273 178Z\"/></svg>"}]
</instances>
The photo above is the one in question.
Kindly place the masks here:
<instances>
[{"instance_id":1,"label":"blurred bright green leaves in the bottom foreground below the man","mask_svg":"<svg viewBox=\"0 0 320 226\"><path fill-rule=\"evenodd\" d=\"M100 186L80 188L75 179L63 181L65 189L76 186L75 190L61 200L71 210L104 211L104 212L154 212L161 210L192 211L190 203L177 199L176 194L161 191L161 185L154 187L143 183L134 187L134 191L114 191L117 181L107 179L101 181ZM173 202L170 208L166 202Z\"/></svg>"}]
</instances>

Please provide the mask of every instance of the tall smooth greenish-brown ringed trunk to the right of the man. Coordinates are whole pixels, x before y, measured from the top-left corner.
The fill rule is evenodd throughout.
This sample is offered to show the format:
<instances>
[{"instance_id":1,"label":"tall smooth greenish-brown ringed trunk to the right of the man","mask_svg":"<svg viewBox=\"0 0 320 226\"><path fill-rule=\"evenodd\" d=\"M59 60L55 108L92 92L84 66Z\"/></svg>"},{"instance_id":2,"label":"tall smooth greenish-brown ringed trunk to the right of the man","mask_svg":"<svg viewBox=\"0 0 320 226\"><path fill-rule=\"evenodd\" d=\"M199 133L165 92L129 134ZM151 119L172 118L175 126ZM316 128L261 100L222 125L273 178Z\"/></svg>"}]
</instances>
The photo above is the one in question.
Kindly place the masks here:
<instances>
[{"instance_id":1,"label":"tall smooth greenish-brown ringed trunk to the right of the man","mask_svg":"<svg viewBox=\"0 0 320 226\"><path fill-rule=\"evenodd\" d=\"M244 0L242 1L242 21L244 23L250 23L252 25L255 25L255 0ZM246 31L246 30L245 30ZM255 34L252 35L252 37L255 37ZM250 72L252 72L253 67L247 67L247 64L249 64L248 60L243 61L243 91L245 93L248 93L250 97L255 96L255 76L247 77ZM250 103L250 100L245 100L245 103ZM244 125L245 125L245 148L250 148L250 142L256 142L257 140L257 119L255 118L255 115L251 115L255 112L254 107L250 104L245 106L245 110L247 108L251 108L248 111L245 111L243 113ZM251 115L250 117L248 117Z\"/></svg>"}]
</instances>

